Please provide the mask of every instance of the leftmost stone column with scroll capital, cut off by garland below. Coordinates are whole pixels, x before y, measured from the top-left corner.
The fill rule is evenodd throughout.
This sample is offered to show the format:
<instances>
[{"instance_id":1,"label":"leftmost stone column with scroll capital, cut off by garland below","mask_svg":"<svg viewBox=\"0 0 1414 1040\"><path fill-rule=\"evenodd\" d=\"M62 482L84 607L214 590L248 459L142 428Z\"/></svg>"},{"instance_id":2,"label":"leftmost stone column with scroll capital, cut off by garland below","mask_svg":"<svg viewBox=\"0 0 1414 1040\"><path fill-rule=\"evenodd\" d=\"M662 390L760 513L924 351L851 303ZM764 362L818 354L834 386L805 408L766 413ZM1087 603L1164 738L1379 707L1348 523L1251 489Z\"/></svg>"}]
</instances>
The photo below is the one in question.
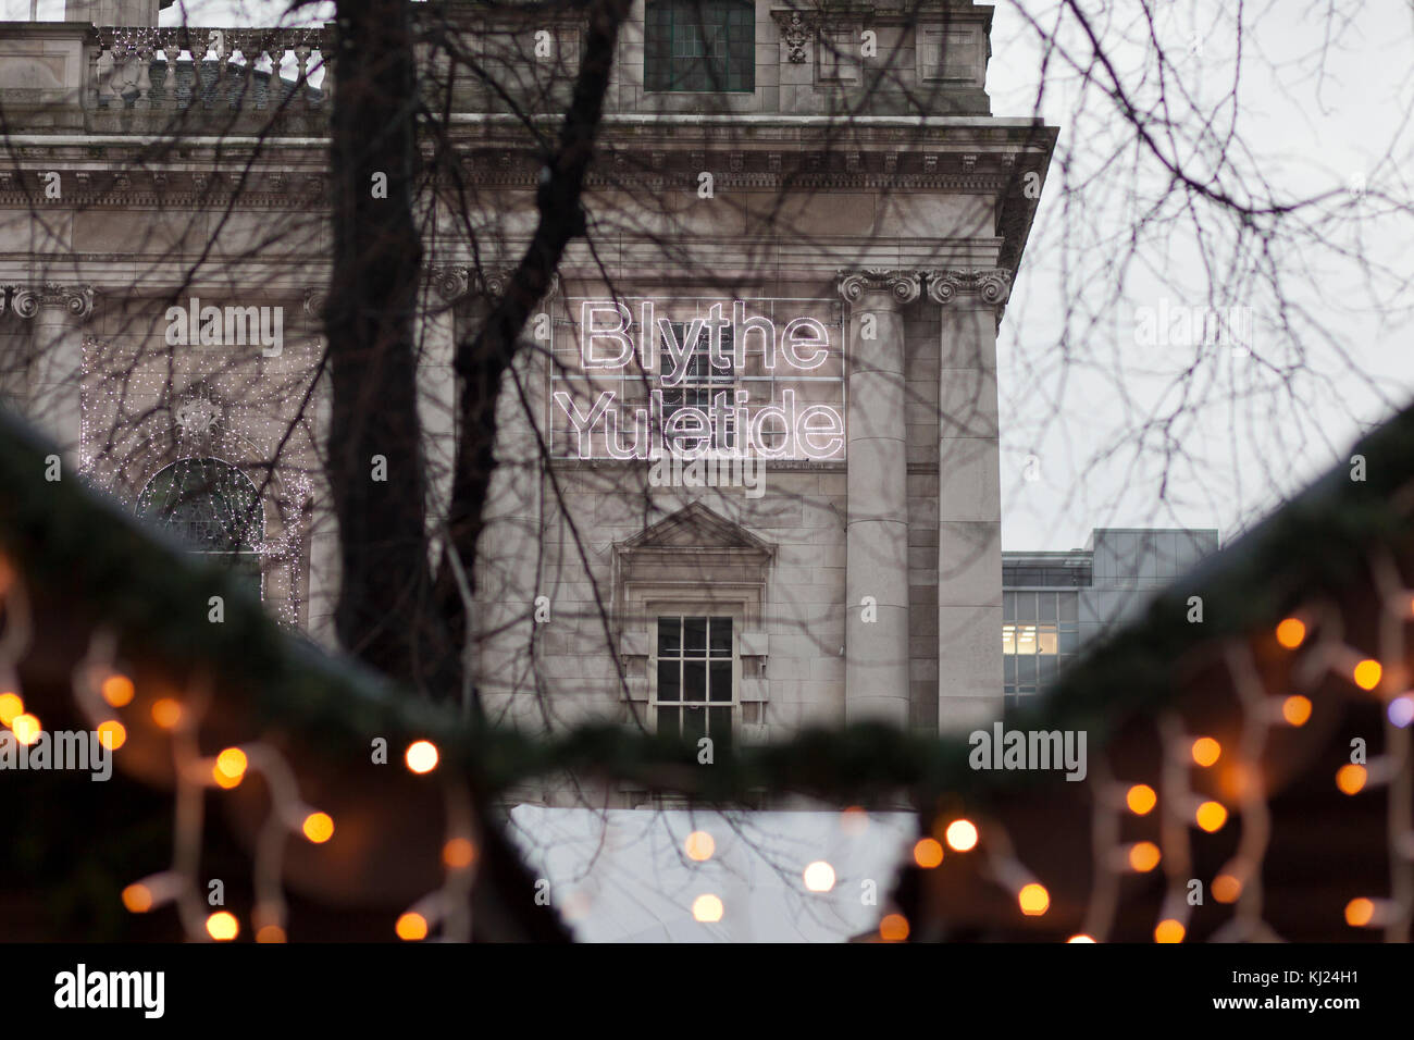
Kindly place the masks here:
<instances>
[{"instance_id":1,"label":"leftmost stone column with scroll capital, cut off by garland below","mask_svg":"<svg viewBox=\"0 0 1414 1040\"><path fill-rule=\"evenodd\" d=\"M28 416L82 467L83 320L93 311L92 286L47 282L21 286L14 313L34 321L28 365Z\"/></svg>"}]
</instances>

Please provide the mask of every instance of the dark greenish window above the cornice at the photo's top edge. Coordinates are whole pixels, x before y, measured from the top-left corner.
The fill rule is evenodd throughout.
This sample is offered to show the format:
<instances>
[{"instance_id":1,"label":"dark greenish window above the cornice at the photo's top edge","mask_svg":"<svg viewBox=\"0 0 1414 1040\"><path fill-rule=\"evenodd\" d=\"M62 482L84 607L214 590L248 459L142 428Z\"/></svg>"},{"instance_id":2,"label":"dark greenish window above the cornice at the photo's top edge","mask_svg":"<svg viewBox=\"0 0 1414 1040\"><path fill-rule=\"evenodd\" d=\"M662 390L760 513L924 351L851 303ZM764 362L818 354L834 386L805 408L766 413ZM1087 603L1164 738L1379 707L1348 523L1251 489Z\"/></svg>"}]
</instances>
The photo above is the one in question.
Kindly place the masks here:
<instances>
[{"instance_id":1,"label":"dark greenish window above the cornice at the photo's top edge","mask_svg":"<svg viewBox=\"0 0 1414 1040\"><path fill-rule=\"evenodd\" d=\"M756 89L755 3L649 0L643 25L643 88Z\"/></svg>"}]
</instances>

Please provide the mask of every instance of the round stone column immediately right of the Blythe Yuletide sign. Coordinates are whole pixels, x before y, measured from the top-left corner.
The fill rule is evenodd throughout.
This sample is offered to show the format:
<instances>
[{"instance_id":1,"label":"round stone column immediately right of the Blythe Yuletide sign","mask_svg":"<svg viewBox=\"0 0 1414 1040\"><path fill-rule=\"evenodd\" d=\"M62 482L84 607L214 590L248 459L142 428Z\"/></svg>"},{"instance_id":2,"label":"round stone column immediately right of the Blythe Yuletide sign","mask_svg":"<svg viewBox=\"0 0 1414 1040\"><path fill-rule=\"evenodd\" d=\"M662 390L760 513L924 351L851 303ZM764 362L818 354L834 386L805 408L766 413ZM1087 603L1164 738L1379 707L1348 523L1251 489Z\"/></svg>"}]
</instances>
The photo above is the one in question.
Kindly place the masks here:
<instances>
[{"instance_id":1,"label":"round stone column immediately right of the Blythe Yuletide sign","mask_svg":"<svg viewBox=\"0 0 1414 1040\"><path fill-rule=\"evenodd\" d=\"M850 304L844 717L906 727L908 456L904 316L916 272L840 276Z\"/></svg>"}]
</instances>

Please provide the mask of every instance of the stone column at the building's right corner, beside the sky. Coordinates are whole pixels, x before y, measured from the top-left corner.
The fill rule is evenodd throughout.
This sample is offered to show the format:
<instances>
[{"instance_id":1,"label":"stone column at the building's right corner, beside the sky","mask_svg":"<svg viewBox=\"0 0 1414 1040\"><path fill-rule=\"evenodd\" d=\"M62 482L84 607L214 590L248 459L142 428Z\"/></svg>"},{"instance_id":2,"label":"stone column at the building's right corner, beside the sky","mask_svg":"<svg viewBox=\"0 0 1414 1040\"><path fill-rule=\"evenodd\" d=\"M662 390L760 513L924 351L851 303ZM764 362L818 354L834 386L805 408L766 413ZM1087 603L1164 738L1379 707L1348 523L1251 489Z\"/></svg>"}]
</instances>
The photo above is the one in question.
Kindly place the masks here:
<instances>
[{"instance_id":1,"label":"stone column at the building's right corner, beside the sky","mask_svg":"<svg viewBox=\"0 0 1414 1040\"><path fill-rule=\"evenodd\" d=\"M937 724L966 732L1001 717L1001 454L997 325L1011 293L1001 269L936 270Z\"/></svg>"}]
</instances>

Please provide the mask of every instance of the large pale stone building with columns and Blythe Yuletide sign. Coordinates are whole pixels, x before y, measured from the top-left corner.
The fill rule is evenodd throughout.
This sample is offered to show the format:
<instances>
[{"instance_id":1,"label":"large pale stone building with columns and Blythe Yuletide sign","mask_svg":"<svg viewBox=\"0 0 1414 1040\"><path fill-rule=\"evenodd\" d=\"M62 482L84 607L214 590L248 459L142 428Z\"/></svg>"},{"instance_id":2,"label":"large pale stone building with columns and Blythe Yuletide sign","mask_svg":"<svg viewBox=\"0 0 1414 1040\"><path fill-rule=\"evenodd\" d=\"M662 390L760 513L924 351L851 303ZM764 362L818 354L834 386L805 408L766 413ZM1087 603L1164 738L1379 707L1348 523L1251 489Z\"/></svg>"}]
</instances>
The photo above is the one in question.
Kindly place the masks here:
<instances>
[{"instance_id":1,"label":"large pale stone building with columns and Blythe Yuletide sign","mask_svg":"<svg viewBox=\"0 0 1414 1040\"><path fill-rule=\"evenodd\" d=\"M578 16L447 10L513 96L563 106ZM991 115L990 27L956 0L635 1L590 245L498 403L475 590L493 717L756 740L1000 713L995 341L1055 129ZM240 529L208 548L325 640L329 40L0 30L4 388L90 480L198 541L215 521L184 481L219 484L202 508ZM436 512L451 345L529 241L539 160L505 96L444 59L424 74L462 174L423 200Z\"/></svg>"}]
</instances>

